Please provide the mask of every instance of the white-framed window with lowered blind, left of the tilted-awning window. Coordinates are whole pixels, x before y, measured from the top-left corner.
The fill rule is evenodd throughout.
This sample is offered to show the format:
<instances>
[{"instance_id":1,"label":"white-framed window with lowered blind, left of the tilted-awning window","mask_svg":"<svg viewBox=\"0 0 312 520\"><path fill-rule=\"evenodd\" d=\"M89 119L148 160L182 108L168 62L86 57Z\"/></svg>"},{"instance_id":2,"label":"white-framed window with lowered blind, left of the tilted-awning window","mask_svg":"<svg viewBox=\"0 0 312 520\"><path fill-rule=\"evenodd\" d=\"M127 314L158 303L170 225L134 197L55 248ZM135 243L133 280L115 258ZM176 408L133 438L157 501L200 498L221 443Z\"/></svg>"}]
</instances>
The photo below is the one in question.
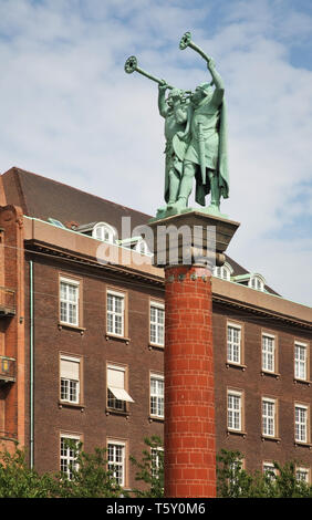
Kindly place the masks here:
<instances>
[{"instance_id":1,"label":"white-framed window with lowered blind, left of the tilted-awning window","mask_svg":"<svg viewBox=\"0 0 312 520\"><path fill-rule=\"evenodd\" d=\"M61 355L61 401L80 402L80 358Z\"/></svg>"}]
</instances>

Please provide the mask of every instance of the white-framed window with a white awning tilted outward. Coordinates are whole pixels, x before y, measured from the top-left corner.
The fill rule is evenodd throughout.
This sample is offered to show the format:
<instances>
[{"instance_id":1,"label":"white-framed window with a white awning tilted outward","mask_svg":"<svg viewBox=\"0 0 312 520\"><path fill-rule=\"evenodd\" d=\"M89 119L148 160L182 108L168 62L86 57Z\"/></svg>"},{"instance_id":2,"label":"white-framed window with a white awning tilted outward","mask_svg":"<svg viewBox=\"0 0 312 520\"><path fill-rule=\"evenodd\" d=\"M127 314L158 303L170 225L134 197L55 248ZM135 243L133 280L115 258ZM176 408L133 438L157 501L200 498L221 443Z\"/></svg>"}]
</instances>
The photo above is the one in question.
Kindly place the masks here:
<instances>
[{"instance_id":1,"label":"white-framed window with a white awning tilted outward","mask_svg":"<svg viewBox=\"0 0 312 520\"><path fill-rule=\"evenodd\" d=\"M126 367L107 365L107 407L125 412L126 403L134 403L126 391Z\"/></svg>"}]
</instances>

